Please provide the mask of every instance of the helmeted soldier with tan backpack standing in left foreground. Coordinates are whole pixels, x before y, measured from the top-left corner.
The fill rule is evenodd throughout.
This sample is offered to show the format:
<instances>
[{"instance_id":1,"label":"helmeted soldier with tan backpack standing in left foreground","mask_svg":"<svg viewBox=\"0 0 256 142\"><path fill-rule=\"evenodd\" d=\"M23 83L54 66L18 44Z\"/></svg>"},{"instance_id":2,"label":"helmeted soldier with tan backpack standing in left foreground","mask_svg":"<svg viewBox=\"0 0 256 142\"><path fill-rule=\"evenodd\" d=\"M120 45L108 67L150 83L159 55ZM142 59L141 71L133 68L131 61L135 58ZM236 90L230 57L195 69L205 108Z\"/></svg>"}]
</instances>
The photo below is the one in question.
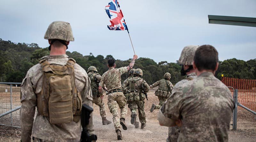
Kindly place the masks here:
<instances>
[{"instance_id":1,"label":"helmeted soldier with tan backpack standing in left foreground","mask_svg":"<svg viewBox=\"0 0 256 142\"><path fill-rule=\"evenodd\" d=\"M44 39L50 55L31 67L21 84L21 141L80 141L82 104L92 107L91 83L86 71L66 55L74 41L69 23L52 22ZM35 106L38 114L33 125ZM92 114L91 114L92 116ZM92 117L87 130L92 135Z\"/></svg>"}]
</instances>

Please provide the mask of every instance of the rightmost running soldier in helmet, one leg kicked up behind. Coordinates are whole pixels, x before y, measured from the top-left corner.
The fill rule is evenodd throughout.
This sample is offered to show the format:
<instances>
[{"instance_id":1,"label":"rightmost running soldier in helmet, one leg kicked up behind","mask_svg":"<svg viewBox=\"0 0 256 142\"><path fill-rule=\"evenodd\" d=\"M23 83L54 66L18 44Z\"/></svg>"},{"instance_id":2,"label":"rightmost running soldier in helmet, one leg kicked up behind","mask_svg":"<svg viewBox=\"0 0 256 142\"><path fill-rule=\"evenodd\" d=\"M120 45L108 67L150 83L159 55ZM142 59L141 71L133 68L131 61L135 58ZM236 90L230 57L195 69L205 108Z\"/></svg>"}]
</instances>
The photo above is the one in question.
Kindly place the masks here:
<instances>
[{"instance_id":1,"label":"rightmost running soldier in helmet, one leg kicked up behind","mask_svg":"<svg viewBox=\"0 0 256 142\"><path fill-rule=\"evenodd\" d=\"M170 82L171 79L171 74L170 73L165 73L164 74L164 79L161 79L154 84L150 85L150 88L153 89L154 87L158 86L158 89L155 92L155 95L157 96L159 100L159 104L155 105L152 104L150 112L153 112L154 109L160 109L160 107L164 104L165 100L169 97L169 95L172 92L173 85Z\"/></svg>"}]
</instances>

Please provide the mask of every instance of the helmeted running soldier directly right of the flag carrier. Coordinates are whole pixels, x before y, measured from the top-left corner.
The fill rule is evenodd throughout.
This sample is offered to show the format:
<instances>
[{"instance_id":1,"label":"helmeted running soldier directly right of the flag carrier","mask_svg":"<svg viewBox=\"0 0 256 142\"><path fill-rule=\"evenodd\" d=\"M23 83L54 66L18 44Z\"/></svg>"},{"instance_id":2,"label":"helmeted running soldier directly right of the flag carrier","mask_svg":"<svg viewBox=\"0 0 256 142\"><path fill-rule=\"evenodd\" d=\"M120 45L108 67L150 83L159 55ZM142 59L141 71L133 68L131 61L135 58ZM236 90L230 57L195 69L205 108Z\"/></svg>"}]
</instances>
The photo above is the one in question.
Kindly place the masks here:
<instances>
[{"instance_id":1,"label":"helmeted running soldier directly right of the flag carrier","mask_svg":"<svg viewBox=\"0 0 256 142\"><path fill-rule=\"evenodd\" d=\"M127 92L125 97L128 102L128 107L130 108L131 114L131 124L135 128L139 128L139 122L137 119L137 109L139 112L140 119L140 129L143 129L146 126L146 114L144 111L144 100L146 94L148 93L149 86L144 79L142 79L143 72L140 68L136 69L134 77L128 78L127 82L123 83L122 90Z\"/></svg>"}]
</instances>

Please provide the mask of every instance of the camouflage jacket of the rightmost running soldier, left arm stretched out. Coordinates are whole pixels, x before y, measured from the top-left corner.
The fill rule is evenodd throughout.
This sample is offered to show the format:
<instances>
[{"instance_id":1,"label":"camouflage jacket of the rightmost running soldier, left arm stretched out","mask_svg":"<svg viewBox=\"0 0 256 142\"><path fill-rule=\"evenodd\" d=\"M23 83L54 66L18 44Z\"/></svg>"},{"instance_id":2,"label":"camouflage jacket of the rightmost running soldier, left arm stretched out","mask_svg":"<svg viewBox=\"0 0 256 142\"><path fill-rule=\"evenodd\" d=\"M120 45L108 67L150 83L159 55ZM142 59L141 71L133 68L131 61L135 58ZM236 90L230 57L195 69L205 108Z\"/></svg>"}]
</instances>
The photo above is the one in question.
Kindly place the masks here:
<instances>
[{"instance_id":1,"label":"camouflage jacket of the rightmost running soldier, left arm stretched out","mask_svg":"<svg viewBox=\"0 0 256 142\"><path fill-rule=\"evenodd\" d=\"M159 85L158 90L166 91L169 93L172 91L172 88L173 88L172 83L166 79L161 79L161 80L155 82L154 84L150 85L150 88L154 88L158 85Z\"/></svg>"}]
</instances>

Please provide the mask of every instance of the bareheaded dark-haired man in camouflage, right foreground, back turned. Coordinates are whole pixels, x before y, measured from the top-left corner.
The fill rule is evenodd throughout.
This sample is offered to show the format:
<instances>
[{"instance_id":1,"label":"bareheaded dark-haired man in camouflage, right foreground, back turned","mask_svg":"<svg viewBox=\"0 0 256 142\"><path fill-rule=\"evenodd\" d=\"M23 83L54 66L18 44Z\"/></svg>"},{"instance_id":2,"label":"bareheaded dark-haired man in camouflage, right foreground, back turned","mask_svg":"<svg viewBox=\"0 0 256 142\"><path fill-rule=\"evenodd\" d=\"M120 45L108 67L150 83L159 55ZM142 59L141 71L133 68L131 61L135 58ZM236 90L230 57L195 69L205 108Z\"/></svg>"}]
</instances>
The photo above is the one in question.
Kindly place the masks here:
<instances>
[{"instance_id":1,"label":"bareheaded dark-haired man in camouflage, right foreground, back turned","mask_svg":"<svg viewBox=\"0 0 256 142\"><path fill-rule=\"evenodd\" d=\"M234 102L228 87L214 76L218 66L213 46L198 47L193 62L197 78L174 89L161 107L159 124L179 126L178 141L228 142Z\"/></svg>"}]
</instances>

